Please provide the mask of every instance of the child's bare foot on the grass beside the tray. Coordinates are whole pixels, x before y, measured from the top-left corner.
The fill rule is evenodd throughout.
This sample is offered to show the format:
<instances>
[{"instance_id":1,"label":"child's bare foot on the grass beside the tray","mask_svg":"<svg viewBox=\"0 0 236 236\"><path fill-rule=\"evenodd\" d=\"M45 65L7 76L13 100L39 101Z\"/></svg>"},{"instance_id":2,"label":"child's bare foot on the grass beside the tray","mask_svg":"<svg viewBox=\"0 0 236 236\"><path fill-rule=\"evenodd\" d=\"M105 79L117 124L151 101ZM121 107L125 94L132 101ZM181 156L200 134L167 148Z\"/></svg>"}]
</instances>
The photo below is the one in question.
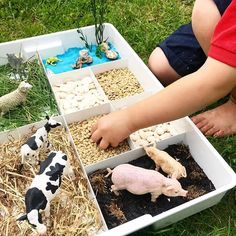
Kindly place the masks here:
<instances>
[{"instance_id":1,"label":"child's bare foot on the grass beside the tray","mask_svg":"<svg viewBox=\"0 0 236 236\"><path fill-rule=\"evenodd\" d=\"M225 104L192 117L194 124L206 136L223 137L236 134L236 104Z\"/></svg>"}]
</instances>

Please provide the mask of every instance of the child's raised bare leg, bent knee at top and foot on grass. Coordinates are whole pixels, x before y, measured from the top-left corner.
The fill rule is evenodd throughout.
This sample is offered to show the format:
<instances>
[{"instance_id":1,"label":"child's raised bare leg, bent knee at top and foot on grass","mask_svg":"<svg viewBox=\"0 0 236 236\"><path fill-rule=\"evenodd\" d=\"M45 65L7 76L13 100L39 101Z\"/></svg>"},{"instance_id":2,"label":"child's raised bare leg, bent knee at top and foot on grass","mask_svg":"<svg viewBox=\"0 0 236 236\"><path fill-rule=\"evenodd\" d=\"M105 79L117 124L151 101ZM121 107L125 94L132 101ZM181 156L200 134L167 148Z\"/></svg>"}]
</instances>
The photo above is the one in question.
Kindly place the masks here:
<instances>
[{"instance_id":1,"label":"child's raised bare leg, bent knee at top and foot on grass","mask_svg":"<svg viewBox=\"0 0 236 236\"><path fill-rule=\"evenodd\" d=\"M192 25L193 31L205 54L210 47L210 40L221 15L212 0L195 1ZM207 20L206 20L207 19ZM236 98L236 88L232 90ZM227 103L192 117L192 121L207 136L222 137L236 134L236 104L230 99Z\"/></svg>"}]
</instances>

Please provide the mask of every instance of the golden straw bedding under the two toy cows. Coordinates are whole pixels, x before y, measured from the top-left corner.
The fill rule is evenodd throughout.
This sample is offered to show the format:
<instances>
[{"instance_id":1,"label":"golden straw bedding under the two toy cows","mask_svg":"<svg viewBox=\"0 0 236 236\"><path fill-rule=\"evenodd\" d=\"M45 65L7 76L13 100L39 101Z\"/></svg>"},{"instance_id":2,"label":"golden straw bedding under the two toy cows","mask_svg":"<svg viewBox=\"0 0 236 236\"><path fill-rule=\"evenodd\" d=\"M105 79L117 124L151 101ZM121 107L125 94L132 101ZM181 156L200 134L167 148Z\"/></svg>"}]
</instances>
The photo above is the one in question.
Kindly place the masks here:
<instances>
[{"instance_id":1,"label":"golden straw bedding under the two toy cows","mask_svg":"<svg viewBox=\"0 0 236 236\"><path fill-rule=\"evenodd\" d=\"M21 140L9 136L9 141L0 145L0 235L37 235L36 230L27 221L16 221L25 213L24 196L39 169L39 166L26 164L19 172L20 147L30 135ZM63 177L60 193L51 202L47 235L96 234L102 226L100 214L91 199L87 180L68 135L63 129L57 129L49 134L49 140L52 150L61 150L67 154L75 179ZM40 160L44 160L46 153L40 155ZM44 214L43 222L47 222Z\"/></svg>"}]
</instances>

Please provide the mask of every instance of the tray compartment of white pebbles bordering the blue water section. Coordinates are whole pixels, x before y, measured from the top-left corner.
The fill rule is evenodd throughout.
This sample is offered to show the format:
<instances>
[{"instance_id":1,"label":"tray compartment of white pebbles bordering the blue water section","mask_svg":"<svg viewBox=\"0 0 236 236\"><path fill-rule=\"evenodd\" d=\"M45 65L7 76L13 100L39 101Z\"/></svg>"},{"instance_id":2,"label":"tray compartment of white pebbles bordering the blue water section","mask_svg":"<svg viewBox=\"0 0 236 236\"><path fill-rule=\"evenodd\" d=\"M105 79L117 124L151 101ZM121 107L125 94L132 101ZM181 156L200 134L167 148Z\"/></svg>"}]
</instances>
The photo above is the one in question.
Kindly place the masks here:
<instances>
[{"instance_id":1,"label":"tray compartment of white pebbles bordering the blue water section","mask_svg":"<svg viewBox=\"0 0 236 236\"><path fill-rule=\"evenodd\" d=\"M62 114L88 109L108 101L89 68L51 75L49 81Z\"/></svg>"}]
</instances>

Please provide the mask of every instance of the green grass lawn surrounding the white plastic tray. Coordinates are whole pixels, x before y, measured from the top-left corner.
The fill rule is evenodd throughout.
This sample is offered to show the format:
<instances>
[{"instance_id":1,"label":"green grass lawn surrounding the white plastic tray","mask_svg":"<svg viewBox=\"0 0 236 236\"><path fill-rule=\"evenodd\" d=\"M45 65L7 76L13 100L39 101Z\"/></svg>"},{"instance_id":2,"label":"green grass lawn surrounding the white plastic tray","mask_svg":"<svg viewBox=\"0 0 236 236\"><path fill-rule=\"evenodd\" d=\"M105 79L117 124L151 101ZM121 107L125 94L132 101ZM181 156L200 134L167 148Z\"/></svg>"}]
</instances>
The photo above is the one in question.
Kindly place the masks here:
<instances>
[{"instance_id":1,"label":"green grass lawn surrounding the white plastic tray","mask_svg":"<svg viewBox=\"0 0 236 236\"><path fill-rule=\"evenodd\" d=\"M0 0L0 42L93 24L90 1ZM106 22L112 23L147 62L156 44L191 17L193 0L109 0ZM236 170L236 136L210 138ZM151 227L133 235L236 235L236 191L199 214L162 230Z\"/></svg>"}]
</instances>

